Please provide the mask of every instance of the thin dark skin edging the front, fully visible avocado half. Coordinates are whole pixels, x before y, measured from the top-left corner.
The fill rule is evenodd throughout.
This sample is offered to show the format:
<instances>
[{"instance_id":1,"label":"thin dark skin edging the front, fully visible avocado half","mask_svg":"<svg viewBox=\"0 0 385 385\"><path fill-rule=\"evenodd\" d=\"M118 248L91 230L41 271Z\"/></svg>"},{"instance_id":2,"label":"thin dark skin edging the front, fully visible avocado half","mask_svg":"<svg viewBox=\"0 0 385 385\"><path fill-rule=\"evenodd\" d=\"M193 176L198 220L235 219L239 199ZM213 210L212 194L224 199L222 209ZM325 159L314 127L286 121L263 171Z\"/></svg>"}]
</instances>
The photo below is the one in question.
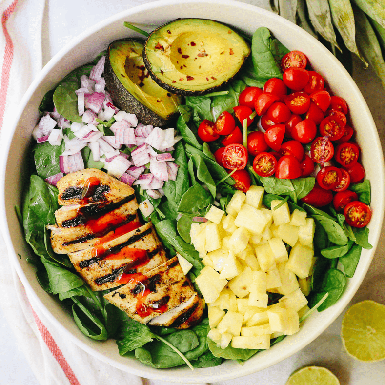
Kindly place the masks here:
<instances>
[{"instance_id":1,"label":"thin dark skin edging the front, fully visible avocado half","mask_svg":"<svg viewBox=\"0 0 385 385\"><path fill-rule=\"evenodd\" d=\"M164 29L168 32L168 30L166 29L167 26L171 26L172 24L176 23L176 22L188 22L188 20L202 20L204 22L210 22L212 21L213 23L217 23L217 24L220 24L220 25L223 25L225 26L225 24L219 22L219 21L216 21L216 20L210 20L210 19L197 19L197 18L179 18L179 19L176 19L176 20L172 20L168 23L165 23L163 24L162 26L154 29L150 34L149 36L147 37L146 41L145 41L145 44L144 44L144 49L143 49L143 53L142 53L142 57L143 57L143 62L144 62L144 65L148 71L148 73L150 74L151 78L158 84L160 85L162 88L164 88L165 90L169 91L169 92L172 92L173 94L176 94L176 95L181 95L181 96L203 96L203 95L206 95L208 93L211 93L211 92L215 92L215 91L218 91L220 89L222 89L224 86L226 86L229 82L231 82L235 76L239 73L239 71L242 69L246 59L248 58L248 56L250 55L251 53L251 50L250 50L250 46L249 44L246 42L246 41L243 41L245 46L248 47L248 53L245 54L242 58L240 58L240 64L239 64L239 68L237 70L236 73L234 73L232 76L228 77L227 79L225 79L221 84L218 84L216 86L213 86L213 87L209 87L209 88L205 88L203 90L188 90L188 89L182 89L182 88L178 88L178 87L174 87L172 86L171 84L165 82L165 81L162 81L162 79L159 78L159 76L153 72L152 70L152 65L151 65L151 62L148 58L148 55L147 55L147 45L148 45L148 42L151 40L151 37L154 35L154 34L157 34L158 31ZM227 27L227 26L226 26ZM232 32L234 32L235 34L237 34L234 30L232 30L230 27L227 27L229 30L231 30ZM191 34L193 34L194 31L190 31ZM237 34L238 35L238 34ZM242 38L243 40L243 38Z\"/></svg>"}]
</instances>

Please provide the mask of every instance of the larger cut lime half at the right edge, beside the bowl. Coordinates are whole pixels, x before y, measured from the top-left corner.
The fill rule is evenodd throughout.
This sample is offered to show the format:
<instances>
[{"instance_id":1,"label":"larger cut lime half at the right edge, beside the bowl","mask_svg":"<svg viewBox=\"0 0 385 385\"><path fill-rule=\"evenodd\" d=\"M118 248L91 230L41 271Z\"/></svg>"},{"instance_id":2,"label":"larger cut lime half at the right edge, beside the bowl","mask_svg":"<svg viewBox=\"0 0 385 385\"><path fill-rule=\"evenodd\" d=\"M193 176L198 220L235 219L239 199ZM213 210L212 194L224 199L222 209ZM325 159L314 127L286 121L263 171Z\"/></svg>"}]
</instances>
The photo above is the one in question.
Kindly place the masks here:
<instances>
[{"instance_id":1,"label":"larger cut lime half at the right edge, beside the bowl","mask_svg":"<svg viewBox=\"0 0 385 385\"><path fill-rule=\"evenodd\" d=\"M385 305L365 300L344 315L341 338L346 352L359 361L385 359Z\"/></svg>"}]
</instances>

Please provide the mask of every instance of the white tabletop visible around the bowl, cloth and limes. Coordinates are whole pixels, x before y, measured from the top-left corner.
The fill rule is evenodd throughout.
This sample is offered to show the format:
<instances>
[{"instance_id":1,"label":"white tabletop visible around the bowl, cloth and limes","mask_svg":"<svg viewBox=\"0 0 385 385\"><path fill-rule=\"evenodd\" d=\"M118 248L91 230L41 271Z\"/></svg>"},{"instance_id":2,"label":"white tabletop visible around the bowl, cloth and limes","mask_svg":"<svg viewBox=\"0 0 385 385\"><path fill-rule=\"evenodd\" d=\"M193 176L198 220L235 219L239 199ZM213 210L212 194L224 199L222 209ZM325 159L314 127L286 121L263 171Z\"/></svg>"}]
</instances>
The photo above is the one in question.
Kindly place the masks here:
<instances>
[{"instance_id":1,"label":"white tabletop visible around the bowl, cloth and limes","mask_svg":"<svg viewBox=\"0 0 385 385\"><path fill-rule=\"evenodd\" d=\"M39 0L36 0L39 1ZM43 24L43 64L45 64L59 49L90 25L104 18L134 6L150 2L149 0L135 0L124 3L122 1L94 0L92 9L91 1L75 0L47 0L44 12ZM261 7L268 7L268 1L245 1ZM106 5L108 3L108 6ZM95 7L95 8L94 8ZM100 11L102 10L102 12ZM84 23L73 23L74 14L83 12ZM373 69L363 69L361 62L354 60L354 79L357 82L366 102L373 114L378 132L380 134L383 151L385 149L385 92L376 77ZM376 250L374 260L369 268L365 280L353 298L353 302L362 299L372 299L385 304L385 225L383 225L380 242ZM341 385L368 385L385 384L385 361L372 364L364 364L350 358L343 349L340 338L341 315L321 334L313 343L309 344L294 357L265 369L259 373L266 375L263 385L275 384L271 380L274 371L280 368L293 366L293 370L303 365L323 365L331 369L339 378ZM320 343L321 342L321 343ZM31 368L17 345L15 336L7 324L0 308L0 385L39 385ZM311 357L311 359L309 359ZM263 376L262 376L263 377ZM268 380L267 380L268 379ZM238 385L247 382L255 383L255 377L247 376L242 379L223 382L223 385ZM144 385L151 385L150 380L143 380ZM160 382L157 382L160 384ZM262 383L261 383L262 384ZM282 383L284 384L284 382ZM281 385L277 384L277 385Z\"/></svg>"}]
</instances>

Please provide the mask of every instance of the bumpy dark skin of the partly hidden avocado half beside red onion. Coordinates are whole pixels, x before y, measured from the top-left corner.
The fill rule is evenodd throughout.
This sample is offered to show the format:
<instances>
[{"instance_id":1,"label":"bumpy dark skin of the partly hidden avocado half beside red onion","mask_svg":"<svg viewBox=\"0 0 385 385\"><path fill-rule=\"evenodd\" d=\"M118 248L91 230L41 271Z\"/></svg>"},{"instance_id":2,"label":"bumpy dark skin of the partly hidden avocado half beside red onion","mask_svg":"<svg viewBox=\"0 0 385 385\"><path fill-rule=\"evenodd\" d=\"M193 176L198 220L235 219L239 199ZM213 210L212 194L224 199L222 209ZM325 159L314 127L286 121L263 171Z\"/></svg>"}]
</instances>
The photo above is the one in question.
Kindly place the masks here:
<instances>
[{"instance_id":1,"label":"bumpy dark skin of the partly hidden avocado half beside red onion","mask_svg":"<svg viewBox=\"0 0 385 385\"><path fill-rule=\"evenodd\" d=\"M137 41L139 43L142 43L141 41L138 41L135 39L124 39L124 40L127 40L127 41L131 40L131 41ZM114 104L118 108L122 109L127 113L135 114L136 117L138 118L138 121L143 124L152 124L153 126L158 126L158 127L167 125L172 120L172 118L174 118L174 115L176 115L176 113L168 116L166 119L162 118L156 112L150 110L140 101L138 101L124 87L121 81L119 81L110 62L110 50L114 43L115 41L113 41L108 46L107 56L104 62L104 79L106 82L108 93L110 94L111 99L114 101Z\"/></svg>"}]
</instances>

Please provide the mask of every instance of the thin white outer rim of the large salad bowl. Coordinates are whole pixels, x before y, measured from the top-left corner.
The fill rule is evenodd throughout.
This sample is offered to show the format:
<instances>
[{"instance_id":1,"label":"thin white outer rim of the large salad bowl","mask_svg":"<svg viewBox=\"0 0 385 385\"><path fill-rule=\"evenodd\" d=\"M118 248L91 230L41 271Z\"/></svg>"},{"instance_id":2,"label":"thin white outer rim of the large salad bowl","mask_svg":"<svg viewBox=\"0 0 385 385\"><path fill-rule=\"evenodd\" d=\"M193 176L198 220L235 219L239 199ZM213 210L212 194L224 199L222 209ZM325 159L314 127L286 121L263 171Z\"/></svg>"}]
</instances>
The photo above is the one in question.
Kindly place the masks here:
<instances>
[{"instance_id":1,"label":"thin white outer rim of the large salad bowl","mask_svg":"<svg viewBox=\"0 0 385 385\"><path fill-rule=\"evenodd\" d=\"M185 383L191 383L191 382L196 383L196 382L202 381L202 382L206 383L206 382L217 382L217 381L223 381L223 380L234 379L237 377L242 377L245 375L252 374L252 373L256 372L257 370L262 370L262 369L265 369L271 365L275 365L275 364L283 361L285 358L298 352L299 350L304 348L304 346L306 346L307 344L312 342L315 338L317 338L341 314L341 312L344 310L346 305L350 302L353 295L357 291L358 287L360 286L360 284L364 280L365 275L367 273L367 270L370 266L371 260L373 259L375 248L378 244L382 220L380 220L380 222L377 223L380 227L380 230L373 231L373 232L375 232L375 236L374 236L374 239L371 240L371 242L373 243L374 247L372 250L370 250L369 258L365 262L364 269L361 270L361 274L360 274L359 279L356 281L355 286L350 287L349 290L344 293L344 296L342 298L340 298L340 300L335 305L333 305L333 307L325 310L325 312L327 312L327 315L326 315L327 322L321 328L319 328L313 334L309 334L307 336L304 336L301 344L298 344L292 350L287 351L284 354L278 354L274 359L272 359L268 363L265 363L264 365L259 365L258 369L255 369L252 366L246 366L246 367L242 368L239 365L240 368L238 370L237 370L237 368L234 368L235 370L233 372L231 372L230 374L226 371L223 371L223 372L217 371L217 373L215 375L211 375L211 376L207 376L207 374L205 374L205 371L202 369L196 369L196 371L202 370L202 375L197 376L197 377L195 377L195 376L193 377L191 375L184 375L183 377L180 377L178 374L176 374L176 372L180 371L180 369L178 369L178 368L159 370L159 369L152 369L152 368L147 367L147 366L145 366L144 369L142 369L142 368L138 369L135 367L127 367L126 365L122 365L120 362L113 361L113 360L107 358L105 355L103 355L99 351L95 350L89 344L84 343L84 341L81 341L81 339L79 339L77 336L72 334L63 324L58 322L58 319L43 304L39 295L35 292L35 290L31 286L30 282L26 278L26 276L22 270L22 267L19 263L19 257L18 257L18 255L17 255L17 253L13 247L10 233L9 233L9 228L6 224L6 221L3 220L3 218L4 219L6 218L4 182L5 182L5 174L6 174L6 160L10 156L10 154L9 154L10 145L11 145L11 142L13 140L13 136L15 134L15 130L17 128L20 117L22 116L24 109L25 109L26 105L28 104L28 101L30 100L32 94L39 87L39 84L41 83L41 81L44 80L46 75L57 65L58 61L60 61L65 56L65 54L67 54L69 51L71 51L71 49L73 49L75 46L80 44L81 41L83 41L86 37L89 37L90 35L95 34L97 31L101 30L103 27L106 27L110 24L113 24L114 22L121 20L123 17L126 18L128 16L134 15L140 11L150 11L150 10L154 10L157 8L161 8L161 7L166 6L166 5L175 5L175 4L181 4L181 3L182 4L190 4L190 5L191 4L210 3L210 4L223 6L223 7L242 8L243 11L256 10L257 9L260 14L262 14L268 18L272 18L274 20L277 20L281 24L287 25L290 28L297 29L302 34L307 35L307 38L310 39L310 41L314 40L313 43L318 45L320 50L323 51L325 55L331 55L329 53L329 51L319 41L317 41L315 38L313 38L311 35L309 35L307 32L305 32L299 26L291 23L289 20L286 20L286 19L274 14L273 12L265 10L263 8L259 8L259 7L254 6L254 5L235 1L235 0L222 0L222 1L220 1L220 0L205 0L205 1L202 1L202 0L199 0L199 1L193 1L193 0L159 0L159 1L141 4L141 5L129 8L129 9L124 10L122 12L119 12L113 16L110 16L109 18L107 18L105 20L98 22L97 24L93 25L92 27L90 27L87 30L85 30L84 32L82 32L77 38L75 38L74 40L67 43L64 47L61 48L61 50L58 51L58 53L50 61L48 61L48 63L44 66L44 68L41 70L39 75L32 81L27 92L24 94L22 100L20 101L19 112L16 115L16 118L14 121L15 123L11 129L12 134L9 135L7 142L3 143L5 148L6 148L6 151L3 153L4 162L0 163L1 164L1 182L0 182L1 183L1 191L0 191L1 195L0 195L0 199L1 199L1 210L4 213L4 215L1 218L1 227L2 227L1 232L4 236L4 240L5 240L5 243L7 245L7 248L8 248L9 254L10 254L11 262L12 262L13 266L15 267L17 274L18 274L23 286L25 287L25 289L28 293L28 296L33 300L34 303L37 304L39 311L41 311L41 314L43 314L55 327L59 328L61 330L61 332L63 332L66 336L68 336L75 344L77 344L79 347L81 347L84 351L86 351L87 353L91 354L94 357L97 357L98 359L100 359L101 361L103 361L105 363L108 363L108 364L115 366L119 369L122 369L124 371L128 371L132 374L135 374L135 375L138 375L141 377L158 379L158 380L163 380L163 381L172 381L172 382L176 382L176 381L181 382L182 381ZM334 56L333 56L333 59L334 59ZM340 64L336 59L334 59L334 60L336 61L336 65L338 65L340 67L340 69L347 74L347 72L344 69L344 67L342 66L342 64ZM350 84L350 86L355 88L355 91L358 95L358 98L360 99L361 104L364 106L364 109L365 109L364 112L368 115L368 119L370 120L369 123L373 127L375 127L375 123L373 121L373 118L371 116L369 108L368 108L360 90L358 89L358 86L355 84L355 82L353 82L353 84ZM374 134L376 134L376 133L374 133ZM377 142L376 144L379 145L381 148L380 140L378 138L378 133L377 133L377 137L376 137L376 142ZM384 186L384 179L385 179L384 174L385 174L385 172L384 172L384 159L382 158L382 165L380 165L380 167L379 167L379 178L380 178L380 182L382 182L382 186ZM383 213L384 212L384 205L385 205L384 199L381 202L376 203L376 205L378 207L378 211ZM117 352L117 354L118 354L118 352ZM261 353L259 353L259 354L261 354ZM138 361L138 363L139 363L139 361ZM181 372L186 373L184 370L182 370ZM193 372L193 374L194 374L194 372Z\"/></svg>"}]
</instances>

